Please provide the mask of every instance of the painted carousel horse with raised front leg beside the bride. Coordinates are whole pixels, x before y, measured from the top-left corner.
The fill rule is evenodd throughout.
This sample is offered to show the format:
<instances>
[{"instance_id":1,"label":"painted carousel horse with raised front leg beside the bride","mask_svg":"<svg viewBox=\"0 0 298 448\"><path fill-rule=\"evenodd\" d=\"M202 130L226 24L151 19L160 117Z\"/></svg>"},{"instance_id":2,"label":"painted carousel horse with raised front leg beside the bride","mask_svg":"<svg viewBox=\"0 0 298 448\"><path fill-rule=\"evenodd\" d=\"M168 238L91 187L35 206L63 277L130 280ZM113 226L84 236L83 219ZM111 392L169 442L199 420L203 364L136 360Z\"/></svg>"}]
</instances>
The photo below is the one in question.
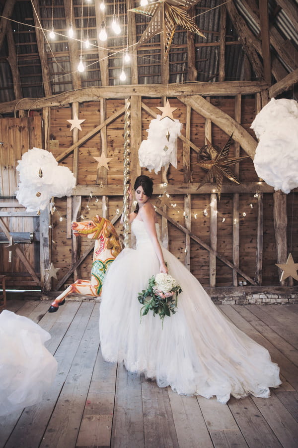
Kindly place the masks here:
<instances>
[{"instance_id":1,"label":"painted carousel horse with raised front leg beside the bride","mask_svg":"<svg viewBox=\"0 0 298 448\"><path fill-rule=\"evenodd\" d=\"M105 218L97 215L90 221L73 222L72 230L75 236L84 235L87 238L95 239L91 280L76 280L52 302L48 310L49 313L55 313L59 306L64 305L65 298L70 294L100 296L107 268L121 252L119 236L115 227Z\"/></svg>"}]
</instances>

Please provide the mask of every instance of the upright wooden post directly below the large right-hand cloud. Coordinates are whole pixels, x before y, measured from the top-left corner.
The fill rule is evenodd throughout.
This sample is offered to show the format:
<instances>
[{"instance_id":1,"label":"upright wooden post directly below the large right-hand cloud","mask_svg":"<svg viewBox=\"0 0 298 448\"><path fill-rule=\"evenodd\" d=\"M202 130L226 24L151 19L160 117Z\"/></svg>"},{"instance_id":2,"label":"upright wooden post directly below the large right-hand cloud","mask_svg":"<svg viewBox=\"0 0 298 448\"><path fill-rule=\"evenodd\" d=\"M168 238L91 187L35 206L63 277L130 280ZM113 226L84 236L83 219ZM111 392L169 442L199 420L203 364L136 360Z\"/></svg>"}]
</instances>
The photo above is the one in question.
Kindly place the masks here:
<instances>
[{"instance_id":1,"label":"upright wooden post directly below the large right-hand cloud","mask_svg":"<svg viewBox=\"0 0 298 448\"><path fill-rule=\"evenodd\" d=\"M277 263L285 263L287 261L287 195L278 190L273 193L273 218L276 244ZM282 271L279 269L281 275ZM280 281L282 286L286 285L286 280Z\"/></svg>"}]
</instances>

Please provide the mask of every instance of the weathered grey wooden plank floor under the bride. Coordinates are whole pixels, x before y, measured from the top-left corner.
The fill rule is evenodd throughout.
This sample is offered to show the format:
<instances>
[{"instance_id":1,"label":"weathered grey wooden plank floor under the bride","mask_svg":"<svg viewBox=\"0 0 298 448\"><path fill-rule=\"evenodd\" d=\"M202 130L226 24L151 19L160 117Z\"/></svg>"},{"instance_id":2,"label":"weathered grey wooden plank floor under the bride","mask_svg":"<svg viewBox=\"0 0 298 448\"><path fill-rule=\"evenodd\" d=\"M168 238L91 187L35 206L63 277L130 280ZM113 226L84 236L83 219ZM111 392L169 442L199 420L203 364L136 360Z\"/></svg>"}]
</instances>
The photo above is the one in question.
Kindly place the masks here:
<instances>
[{"instance_id":1,"label":"weathered grey wooden plank floor under the bride","mask_svg":"<svg viewBox=\"0 0 298 448\"><path fill-rule=\"evenodd\" d=\"M283 384L268 399L185 397L101 357L95 302L9 300L7 309L49 331L58 372L43 401L0 417L0 448L297 447L298 305L224 305L238 328L268 348Z\"/></svg>"}]
</instances>

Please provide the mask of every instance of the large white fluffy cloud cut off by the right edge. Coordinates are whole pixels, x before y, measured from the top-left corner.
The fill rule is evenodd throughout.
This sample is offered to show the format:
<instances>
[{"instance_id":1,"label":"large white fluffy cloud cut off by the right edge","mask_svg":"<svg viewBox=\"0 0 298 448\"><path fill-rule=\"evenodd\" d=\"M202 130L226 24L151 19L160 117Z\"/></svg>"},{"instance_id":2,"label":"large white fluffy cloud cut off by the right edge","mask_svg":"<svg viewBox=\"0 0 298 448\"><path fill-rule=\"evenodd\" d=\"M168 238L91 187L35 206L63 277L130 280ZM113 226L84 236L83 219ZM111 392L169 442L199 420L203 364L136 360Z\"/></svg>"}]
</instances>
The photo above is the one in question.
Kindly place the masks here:
<instances>
[{"instance_id":1,"label":"large white fluffy cloud cut off by the right edge","mask_svg":"<svg viewBox=\"0 0 298 448\"><path fill-rule=\"evenodd\" d=\"M259 144L254 157L260 178L275 190L298 187L298 103L274 98L251 124Z\"/></svg>"}]
</instances>

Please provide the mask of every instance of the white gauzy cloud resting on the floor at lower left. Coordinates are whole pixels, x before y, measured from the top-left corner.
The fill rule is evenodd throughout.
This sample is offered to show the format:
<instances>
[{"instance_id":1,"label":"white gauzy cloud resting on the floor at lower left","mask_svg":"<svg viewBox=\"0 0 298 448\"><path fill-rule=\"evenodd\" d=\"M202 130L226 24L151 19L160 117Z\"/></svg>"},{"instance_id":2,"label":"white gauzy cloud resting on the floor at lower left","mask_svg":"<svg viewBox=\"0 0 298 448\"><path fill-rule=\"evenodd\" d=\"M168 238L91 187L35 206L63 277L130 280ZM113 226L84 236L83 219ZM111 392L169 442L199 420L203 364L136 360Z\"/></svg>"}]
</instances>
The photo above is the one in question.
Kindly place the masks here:
<instances>
[{"instance_id":1,"label":"white gauzy cloud resting on the floor at lower left","mask_svg":"<svg viewBox=\"0 0 298 448\"><path fill-rule=\"evenodd\" d=\"M0 314L0 416L42 400L57 371L44 345L50 338L31 319L8 310Z\"/></svg>"}]
</instances>

